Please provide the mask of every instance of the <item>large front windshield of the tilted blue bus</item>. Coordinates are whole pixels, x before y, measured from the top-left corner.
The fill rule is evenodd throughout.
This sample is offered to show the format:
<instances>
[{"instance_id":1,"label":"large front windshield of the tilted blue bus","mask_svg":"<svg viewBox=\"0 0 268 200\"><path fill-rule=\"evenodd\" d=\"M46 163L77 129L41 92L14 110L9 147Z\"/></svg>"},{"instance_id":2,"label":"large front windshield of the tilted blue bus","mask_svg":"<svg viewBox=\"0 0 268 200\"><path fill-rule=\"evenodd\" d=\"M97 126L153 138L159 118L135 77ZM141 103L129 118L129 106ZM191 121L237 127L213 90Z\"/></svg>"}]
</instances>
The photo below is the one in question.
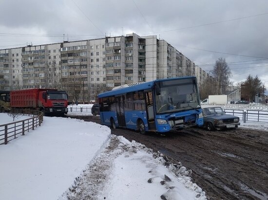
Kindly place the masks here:
<instances>
[{"instance_id":1,"label":"large front windshield of the tilted blue bus","mask_svg":"<svg viewBox=\"0 0 268 200\"><path fill-rule=\"evenodd\" d=\"M156 113L172 113L200 108L197 85L192 79L161 82L155 92Z\"/></svg>"}]
</instances>

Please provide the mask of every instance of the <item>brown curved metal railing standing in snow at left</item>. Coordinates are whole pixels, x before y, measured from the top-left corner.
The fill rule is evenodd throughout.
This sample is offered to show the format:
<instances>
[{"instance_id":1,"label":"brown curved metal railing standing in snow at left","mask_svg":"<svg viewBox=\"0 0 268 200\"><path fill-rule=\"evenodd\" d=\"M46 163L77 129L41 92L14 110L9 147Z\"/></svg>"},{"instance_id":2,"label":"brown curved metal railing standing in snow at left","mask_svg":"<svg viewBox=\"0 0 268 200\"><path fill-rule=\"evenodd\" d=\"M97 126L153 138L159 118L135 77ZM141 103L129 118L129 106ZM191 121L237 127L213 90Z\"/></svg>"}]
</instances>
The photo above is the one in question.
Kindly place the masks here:
<instances>
[{"instance_id":1,"label":"brown curved metal railing standing in snow at left","mask_svg":"<svg viewBox=\"0 0 268 200\"><path fill-rule=\"evenodd\" d=\"M17 112L31 117L0 125L0 145L6 145L9 141L16 139L20 134L25 135L25 132L35 130L35 127L41 126L41 123L43 122L44 114L40 111L16 109L10 112Z\"/></svg>"}]
</instances>

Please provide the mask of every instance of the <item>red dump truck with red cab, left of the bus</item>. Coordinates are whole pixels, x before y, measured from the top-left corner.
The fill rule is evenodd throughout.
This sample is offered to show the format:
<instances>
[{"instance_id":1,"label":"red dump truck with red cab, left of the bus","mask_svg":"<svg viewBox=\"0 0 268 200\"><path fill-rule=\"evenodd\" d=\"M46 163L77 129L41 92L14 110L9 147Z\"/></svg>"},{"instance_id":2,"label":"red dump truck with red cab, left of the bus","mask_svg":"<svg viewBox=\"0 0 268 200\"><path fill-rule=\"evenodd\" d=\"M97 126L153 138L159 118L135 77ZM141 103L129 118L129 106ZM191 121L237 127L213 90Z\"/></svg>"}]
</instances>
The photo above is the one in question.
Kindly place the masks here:
<instances>
[{"instance_id":1,"label":"red dump truck with red cab, left of the bus","mask_svg":"<svg viewBox=\"0 0 268 200\"><path fill-rule=\"evenodd\" d=\"M57 89L27 89L10 91L12 108L29 108L44 114L64 115L68 112L68 95Z\"/></svg>"}]
</instances>

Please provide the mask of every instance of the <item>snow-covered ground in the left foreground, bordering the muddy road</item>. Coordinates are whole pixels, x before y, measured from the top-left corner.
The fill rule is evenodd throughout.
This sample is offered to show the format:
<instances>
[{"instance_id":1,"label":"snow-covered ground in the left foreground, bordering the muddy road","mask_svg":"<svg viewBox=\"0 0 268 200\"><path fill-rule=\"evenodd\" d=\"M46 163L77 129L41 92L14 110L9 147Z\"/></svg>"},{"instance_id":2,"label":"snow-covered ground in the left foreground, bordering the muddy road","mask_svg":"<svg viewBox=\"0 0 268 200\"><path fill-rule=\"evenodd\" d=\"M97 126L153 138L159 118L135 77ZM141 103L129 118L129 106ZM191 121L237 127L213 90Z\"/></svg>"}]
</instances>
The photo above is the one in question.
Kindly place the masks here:
<instances>
[{"instance_id":1,"label":"snow-covered ground in the left foreground, bordering the muddy road","mask_svg":"<svg viewBox=\"0 0 268 200\"><path fill-rule=\"evenodd\" d=\"M0 113L0 123L7 119ZM18 119L20 120L20 119ZM44 117L34 131L0 145L3 200L204 200L191 170L108 127Z\"/></svg>"}]
</instances>

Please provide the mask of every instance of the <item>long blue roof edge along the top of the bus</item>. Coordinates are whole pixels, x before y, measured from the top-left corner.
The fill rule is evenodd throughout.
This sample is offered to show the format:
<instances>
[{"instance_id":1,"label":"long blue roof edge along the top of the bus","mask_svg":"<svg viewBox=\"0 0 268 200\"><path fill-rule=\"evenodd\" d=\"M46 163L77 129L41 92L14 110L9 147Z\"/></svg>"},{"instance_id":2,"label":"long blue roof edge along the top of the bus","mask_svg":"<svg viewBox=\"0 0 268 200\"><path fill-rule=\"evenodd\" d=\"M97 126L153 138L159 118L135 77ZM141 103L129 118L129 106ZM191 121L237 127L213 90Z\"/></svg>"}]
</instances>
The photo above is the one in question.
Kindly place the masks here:
<instances>
[{"instance_id":1,"label":"long blue roof edge along the top of the bus","mask_svg":"<svg viewBox=\"0 0 268 200\"><path fill-rule=\"evenodd\" d=\"M176 79L188 79L188 78L194 78L194 76L177 77L177 78L169 78L169 79L157 79L157 80L154 80L154 81L140 83L140 84L136 84L136 85L129 86L129 87L122 87L120 89L115 89L115 90L112 90L112 91L109 91L109 92L101 93L101 94L98 95L98 98L110 97L110 96L125 94L127 92L135 92L135 91L139 91L139 90L150 89L150 88L153 87L153 84L156 83L156 82L170 81L170 80L176 80Z\"/></svg>"}]
</instances>

